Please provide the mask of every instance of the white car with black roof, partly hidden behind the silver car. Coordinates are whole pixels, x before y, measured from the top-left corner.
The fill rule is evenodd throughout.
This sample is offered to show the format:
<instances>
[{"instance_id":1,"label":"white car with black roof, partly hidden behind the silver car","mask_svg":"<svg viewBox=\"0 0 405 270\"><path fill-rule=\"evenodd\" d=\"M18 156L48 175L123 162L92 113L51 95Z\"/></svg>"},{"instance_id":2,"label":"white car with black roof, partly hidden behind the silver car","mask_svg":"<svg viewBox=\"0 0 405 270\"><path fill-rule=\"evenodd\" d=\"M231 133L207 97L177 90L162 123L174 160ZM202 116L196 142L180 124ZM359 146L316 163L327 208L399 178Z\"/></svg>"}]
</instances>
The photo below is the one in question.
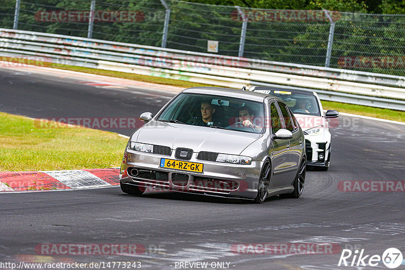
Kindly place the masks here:
<instances>
[{"instance_id":1,"label":"white car with black roof, partly hidden behind the silver car","mask_svg":"<svg viewBox=\"0 0 405 270\"><path fill-rule=\"evenodd\" d=\"M339 112L323 112L322 104L315 92L253 86L250 91L270 94L282 99L294 113L305 137L307 165L328 170L331 161L331 132L326 119L336 118Z\"/></svg>"}]
</instances>

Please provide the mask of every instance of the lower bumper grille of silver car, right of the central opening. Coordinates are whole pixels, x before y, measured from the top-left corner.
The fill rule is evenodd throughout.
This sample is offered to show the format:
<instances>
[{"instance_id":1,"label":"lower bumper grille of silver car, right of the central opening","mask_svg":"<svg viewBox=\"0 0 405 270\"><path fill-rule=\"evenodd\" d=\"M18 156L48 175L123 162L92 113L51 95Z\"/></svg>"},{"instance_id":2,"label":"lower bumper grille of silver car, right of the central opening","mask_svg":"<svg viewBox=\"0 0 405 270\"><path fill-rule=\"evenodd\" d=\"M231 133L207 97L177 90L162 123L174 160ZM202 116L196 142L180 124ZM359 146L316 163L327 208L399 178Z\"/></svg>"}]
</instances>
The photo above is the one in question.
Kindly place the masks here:
<instances>
[{"instance_id":1,"label":"lower bumper grille of silver car, right of the central opening","mask_svg":"<svg viewBox=\"0 0 405 270\"><path fill-rule=\"evenodd\" d=\"M204 191L214 193L229 193L239 188L239 183L230 180L195 177L190 185L190 191Z\"/></svg>"}]
</instances>

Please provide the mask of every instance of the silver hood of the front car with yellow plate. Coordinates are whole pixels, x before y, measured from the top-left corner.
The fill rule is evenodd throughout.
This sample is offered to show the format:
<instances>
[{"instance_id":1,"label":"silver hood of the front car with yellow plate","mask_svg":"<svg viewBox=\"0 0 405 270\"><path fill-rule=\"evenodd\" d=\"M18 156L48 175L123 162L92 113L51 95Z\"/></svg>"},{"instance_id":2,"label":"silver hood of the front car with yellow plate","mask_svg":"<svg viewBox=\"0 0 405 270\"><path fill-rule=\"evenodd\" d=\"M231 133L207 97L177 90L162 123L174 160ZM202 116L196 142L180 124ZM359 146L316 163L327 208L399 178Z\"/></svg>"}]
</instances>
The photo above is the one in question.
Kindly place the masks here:
<instances>
[{"instance_id":1,"label":"silver hood of the front car with yellow plate","mask_svg":"<svg viewBox=\"0 0 405 270\"><path fill-rule=\"evenodd\" d=\"M209 151L239 155L262 136L256 133L151 121L139 128L131 141L169 146L172 149L190 148L194 152Z\"/></svg>"}]
</instances>

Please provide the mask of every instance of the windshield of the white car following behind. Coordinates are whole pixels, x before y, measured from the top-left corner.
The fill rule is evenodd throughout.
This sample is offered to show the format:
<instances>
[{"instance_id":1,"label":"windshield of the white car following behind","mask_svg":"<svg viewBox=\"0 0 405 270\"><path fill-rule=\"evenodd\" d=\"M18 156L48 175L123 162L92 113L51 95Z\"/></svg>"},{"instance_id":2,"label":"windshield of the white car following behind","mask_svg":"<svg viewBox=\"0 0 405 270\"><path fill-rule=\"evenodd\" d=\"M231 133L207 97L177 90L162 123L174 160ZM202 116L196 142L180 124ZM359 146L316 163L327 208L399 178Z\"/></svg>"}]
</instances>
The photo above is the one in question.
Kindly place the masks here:
<instances>
[{"instance_id":1,"label":"windshield of the white car following behind","mask_svg":"<svg viewBox=\"0 0 405 270\"><path fill-rule=\"evenodd\" d=\"M282 99L293 113L320 116L317 99L312 94L271 91L273 96Z\"/></svg>"}]
</instances>

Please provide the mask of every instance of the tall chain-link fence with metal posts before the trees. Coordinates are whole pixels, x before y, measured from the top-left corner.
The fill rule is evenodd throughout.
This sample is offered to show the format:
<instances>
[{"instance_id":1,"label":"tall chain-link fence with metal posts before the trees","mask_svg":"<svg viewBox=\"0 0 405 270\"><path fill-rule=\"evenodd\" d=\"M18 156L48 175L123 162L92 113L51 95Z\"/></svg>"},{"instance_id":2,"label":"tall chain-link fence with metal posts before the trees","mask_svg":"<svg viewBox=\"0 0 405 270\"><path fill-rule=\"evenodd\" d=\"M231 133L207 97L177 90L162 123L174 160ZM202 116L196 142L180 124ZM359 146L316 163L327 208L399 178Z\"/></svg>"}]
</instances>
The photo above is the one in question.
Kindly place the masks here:
<instances>
[{"instance_id":1,"label":"tall chain-link fence with metal posts before the trees","mask_svg":"<svg viewBox=\"0 0 405 270\"><path fill-rule=\"evenodd\" d=\"M405 15L177 0L3 0L0 14L3 28L405 75Z\"/></svg>"}]
</instances>

